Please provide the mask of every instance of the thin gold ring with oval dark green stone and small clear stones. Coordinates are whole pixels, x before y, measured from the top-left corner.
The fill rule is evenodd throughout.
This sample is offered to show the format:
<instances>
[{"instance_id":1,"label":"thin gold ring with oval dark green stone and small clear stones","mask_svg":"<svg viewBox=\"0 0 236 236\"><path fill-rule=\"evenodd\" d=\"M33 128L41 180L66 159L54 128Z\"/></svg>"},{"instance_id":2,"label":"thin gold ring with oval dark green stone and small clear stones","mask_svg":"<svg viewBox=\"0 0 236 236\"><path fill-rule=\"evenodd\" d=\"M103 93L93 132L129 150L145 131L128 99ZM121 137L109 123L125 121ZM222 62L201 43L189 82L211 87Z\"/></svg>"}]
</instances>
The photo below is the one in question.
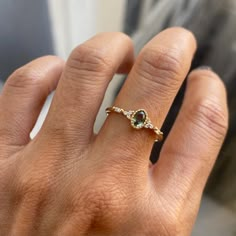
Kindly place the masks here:
<instances>
[{"instance_id":1,"label":"thin gold ring with oval dark green stone and small clear stones","mask_svg":"<svg viewBox=\"0 0 236 236\"><path fill-rule=\"evenodd\" d=\"M124 109L115 106L108 107L106 109L107 115L112 112L124 115L128 120L130 120L131 126L134 129L146 128L152 130L156 135L155 142L163 140L163 133L152 124L150 118L148 117L148 113L144 109L139 109L137 111L125 111Z\"/></svg>"}]
</instances>

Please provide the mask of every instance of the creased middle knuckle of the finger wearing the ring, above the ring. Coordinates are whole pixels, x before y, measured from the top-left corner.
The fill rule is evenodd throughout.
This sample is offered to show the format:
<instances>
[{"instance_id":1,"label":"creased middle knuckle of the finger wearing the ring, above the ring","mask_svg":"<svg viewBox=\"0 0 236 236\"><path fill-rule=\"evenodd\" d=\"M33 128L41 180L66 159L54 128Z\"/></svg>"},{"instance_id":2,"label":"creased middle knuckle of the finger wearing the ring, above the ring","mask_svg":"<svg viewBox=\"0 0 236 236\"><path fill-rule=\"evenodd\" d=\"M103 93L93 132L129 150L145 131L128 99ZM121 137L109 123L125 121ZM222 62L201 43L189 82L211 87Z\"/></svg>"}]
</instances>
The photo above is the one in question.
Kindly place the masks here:
<instances>
[{"instance_id":1,"label":"creased middle knuckle of the finger wearing the ring, above the ring","mask_svg":"<svg viewBox=\"0 0 236 236\"><path fill-rule=\"evenodd\" d=\"M181 78L182 64L178 52L174 49L148 48L138 59L137 72L142 79L148 80L155 87L162 89L176 89Z\"/></svg>"}]
</instances>

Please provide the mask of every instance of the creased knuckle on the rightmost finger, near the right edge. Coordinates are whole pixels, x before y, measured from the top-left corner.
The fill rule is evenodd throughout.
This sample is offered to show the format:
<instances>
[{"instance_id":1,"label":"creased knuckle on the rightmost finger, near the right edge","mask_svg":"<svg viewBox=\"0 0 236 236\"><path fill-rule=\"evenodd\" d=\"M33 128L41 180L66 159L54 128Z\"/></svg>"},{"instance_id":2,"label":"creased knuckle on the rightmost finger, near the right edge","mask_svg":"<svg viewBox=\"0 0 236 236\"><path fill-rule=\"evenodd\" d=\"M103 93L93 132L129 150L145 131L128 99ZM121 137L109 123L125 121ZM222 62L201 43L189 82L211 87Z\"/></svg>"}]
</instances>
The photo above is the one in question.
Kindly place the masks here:
<instances>
[{"instance_id":1,"label":"creased knuckle on the rightmost finger, near the right edge","mask_svg":"<svg viewBox=\"0 0 236 236\"><path fill-rule=\"evenodd\" d=\"M190 112L197 125L207 130L213 137L222 140L228 129L228 116L222 106L209 99L199 100Z\"/></svg>"}]
</instances>

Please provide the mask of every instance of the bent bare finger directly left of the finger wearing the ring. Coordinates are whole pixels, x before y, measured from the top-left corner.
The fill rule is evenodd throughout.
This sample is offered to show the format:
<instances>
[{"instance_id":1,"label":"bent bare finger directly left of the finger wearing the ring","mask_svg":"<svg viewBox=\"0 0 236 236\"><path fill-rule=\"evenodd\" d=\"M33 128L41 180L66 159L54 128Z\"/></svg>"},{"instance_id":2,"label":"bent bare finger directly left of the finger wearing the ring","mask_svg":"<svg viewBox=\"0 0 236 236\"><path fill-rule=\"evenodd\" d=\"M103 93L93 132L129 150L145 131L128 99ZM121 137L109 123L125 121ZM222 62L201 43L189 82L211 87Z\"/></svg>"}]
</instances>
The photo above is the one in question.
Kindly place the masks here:
<instances>
[{"instance_id":1,"label":"bent bare finger directly left of the finger wearing the ring","mask_svg":"<svg viewBox=\"0 0 236 236\"><path fill-rule=\"evenodd\" d=\"M114 74L133 64L133 46L122 33L102 33L71 54L58 85L45 129L87 144L106 88Z\"/></svg>"}]
</instances>

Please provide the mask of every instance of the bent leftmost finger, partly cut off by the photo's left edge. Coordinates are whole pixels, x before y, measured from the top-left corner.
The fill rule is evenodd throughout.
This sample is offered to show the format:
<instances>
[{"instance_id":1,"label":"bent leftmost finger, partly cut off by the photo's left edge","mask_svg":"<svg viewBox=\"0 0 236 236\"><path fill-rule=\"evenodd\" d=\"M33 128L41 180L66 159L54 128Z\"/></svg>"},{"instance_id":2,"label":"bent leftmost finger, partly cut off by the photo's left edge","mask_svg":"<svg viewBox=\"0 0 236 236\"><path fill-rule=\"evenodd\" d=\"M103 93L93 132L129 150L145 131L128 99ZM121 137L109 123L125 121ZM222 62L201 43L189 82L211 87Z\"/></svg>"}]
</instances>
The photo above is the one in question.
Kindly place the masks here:
<instances>
[{"instance_id":1,"label":"bent leftmost finger, partly cut off by the photo's left edge","mask_svg":"<svg viewBox=\"0 0 236 236\"><path fill-rule=\"evenodd\" d=\"M48 94L58 83L63 61L54 56L36 59L16 70L0 98L1 143L25 145Z\"/></svg>"}]
</instances>

